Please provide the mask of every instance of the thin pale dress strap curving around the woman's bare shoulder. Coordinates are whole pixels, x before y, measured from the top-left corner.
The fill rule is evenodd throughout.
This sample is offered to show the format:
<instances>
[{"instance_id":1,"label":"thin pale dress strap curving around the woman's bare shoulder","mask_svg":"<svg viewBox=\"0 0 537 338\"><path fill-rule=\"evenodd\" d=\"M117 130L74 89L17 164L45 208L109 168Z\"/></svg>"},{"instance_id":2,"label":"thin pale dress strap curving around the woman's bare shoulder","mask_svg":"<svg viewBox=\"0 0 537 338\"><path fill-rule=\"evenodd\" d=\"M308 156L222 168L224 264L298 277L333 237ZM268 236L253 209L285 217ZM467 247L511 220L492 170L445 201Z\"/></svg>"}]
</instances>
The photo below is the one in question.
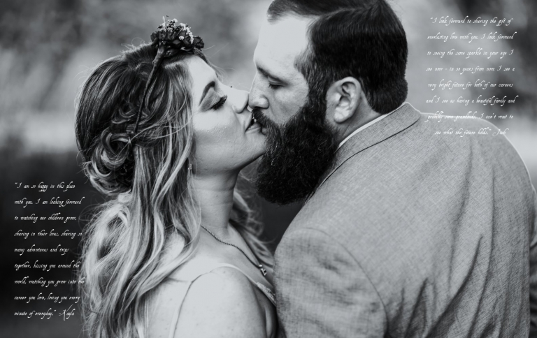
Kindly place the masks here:
<instances>
[{"instance_id":1,"label":"thin pale dress strap curving around the woman's bare shoulder","mask_svg":"<svg viewBox=\"0 0 537 338\"><path fill-rule=\"evenodd\" d=\"M173 338L173 336L176 334L176 327L179 321L179 315L181 312L182 303L185 301L185 297L187 296L190 286L192 286L194 281L196 281L196 279L198 279L199 277L203 276L204 274L213 272L219 267L231 267L232 269L240 271L243 275L245 275L246 278L248 278L250 282L252 282L252 284L257 286L257 288L259 288L259 290L261 290L262 293L266 295L268 300L270 300L271 303L275 306L276 304L275 295L273 291L271 291L271 289L265 286L264 284L259 283L259 281L255 281L254 279L252 279L252 277L248 276L248 274L243 272L243 270L236 267L235 265L231 265L227 263L204 262L203 264L196 264L195 266L194 265L189 266L189 267L185 266L185 268L187 268L185 271L185 275L186 275L185 277L187 277L186 281L189 283L189 285L187 286L187 288L185 288L185 291L182 293L182 295L180 295L180 299L182 298L182 301L180 302L179 306L176 308L176 311L173 312L173 317L172 317L172 322L171 322L172 325L170 327L170 333L168 336L169 338ZM181 279L181 280L185 281L185 279Z\"/></svg>"}]
</instances>

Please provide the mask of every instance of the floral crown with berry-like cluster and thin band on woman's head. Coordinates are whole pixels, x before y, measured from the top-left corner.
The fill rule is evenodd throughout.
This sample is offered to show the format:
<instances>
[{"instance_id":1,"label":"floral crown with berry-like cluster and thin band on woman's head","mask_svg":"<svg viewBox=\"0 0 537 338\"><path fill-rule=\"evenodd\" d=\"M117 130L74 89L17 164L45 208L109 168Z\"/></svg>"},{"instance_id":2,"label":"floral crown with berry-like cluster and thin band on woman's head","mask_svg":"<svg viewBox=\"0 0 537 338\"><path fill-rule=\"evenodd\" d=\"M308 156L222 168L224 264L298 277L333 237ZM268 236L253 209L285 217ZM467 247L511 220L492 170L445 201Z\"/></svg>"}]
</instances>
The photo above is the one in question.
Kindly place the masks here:
<instances>
[{"instance_id":1,"label":"floral crown with berry-like cluster and thin band on woman's head","mask_svg":"<svg viewBox=\"0 0 537 338\"><path fill-rule=\"evenodd\" d=\"M148 94L150 84L155 77L155 73L162 64L162 60L166 57L173 57L179 53L194 54L194 50L201 50L204 47L203 40L199 36L194 36L187 24L177 24L177 19L166 20L166 17L162 17L164 22L159 25L158 30L151 34L151 45L157 47L157 56L153 60L153 68L149 74L148 82L145 84L143 91L142 101L138 110L138 116L136 117L136 125L131 136L136 135L138 131L138 124L140 124L140 117L142 115L143 103L145 102L145 96ZM130 136L129 136L130 142Z\"/></svg>"}]
</instances>

